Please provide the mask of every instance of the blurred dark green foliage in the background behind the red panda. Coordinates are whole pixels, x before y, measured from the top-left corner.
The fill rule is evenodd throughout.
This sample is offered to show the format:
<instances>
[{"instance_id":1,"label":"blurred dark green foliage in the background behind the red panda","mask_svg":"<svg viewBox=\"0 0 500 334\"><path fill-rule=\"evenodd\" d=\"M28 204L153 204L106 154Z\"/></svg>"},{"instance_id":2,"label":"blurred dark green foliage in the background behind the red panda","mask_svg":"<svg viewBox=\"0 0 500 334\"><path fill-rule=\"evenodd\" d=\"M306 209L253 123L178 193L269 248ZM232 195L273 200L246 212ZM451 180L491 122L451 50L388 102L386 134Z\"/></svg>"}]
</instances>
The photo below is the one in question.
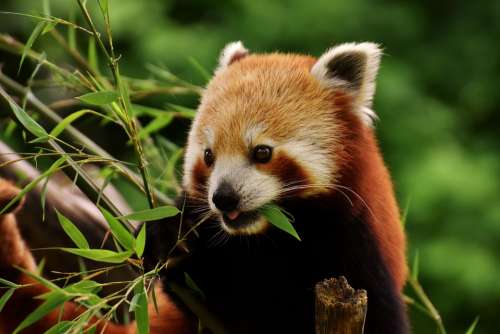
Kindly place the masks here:
<instances>
[{"instance_id":1,"label":"blurred dark green foliage in the background behind the red panda","mask_svg":"<svg viewBox=\"0 0 500 334\"><path fill-rule=\"evenodd\" d=\"M53 15L78 12L73 1L51 5ZM476 333L497 331L500 1L115 0L110 6L127 75L145 76L146 64L164 64L202 84L189 58L212 69L232 40L255 52L316 56L336 43L381 43L377 132L401 207L409 207L409 258L419 250L420 280L450 333L463 333L476 315ZM1 7L33 12L41 2L4 0ZM0 31L24 41L33 27L25 18L0 19ZM40 41L35 49L61 56L54 45ZM18 60L0 56L14 73ZM164 133L182 143L186 127ZM415 310L411 315L415 333L434 331L430 319Z\"/></svg>"}]
</instances>

